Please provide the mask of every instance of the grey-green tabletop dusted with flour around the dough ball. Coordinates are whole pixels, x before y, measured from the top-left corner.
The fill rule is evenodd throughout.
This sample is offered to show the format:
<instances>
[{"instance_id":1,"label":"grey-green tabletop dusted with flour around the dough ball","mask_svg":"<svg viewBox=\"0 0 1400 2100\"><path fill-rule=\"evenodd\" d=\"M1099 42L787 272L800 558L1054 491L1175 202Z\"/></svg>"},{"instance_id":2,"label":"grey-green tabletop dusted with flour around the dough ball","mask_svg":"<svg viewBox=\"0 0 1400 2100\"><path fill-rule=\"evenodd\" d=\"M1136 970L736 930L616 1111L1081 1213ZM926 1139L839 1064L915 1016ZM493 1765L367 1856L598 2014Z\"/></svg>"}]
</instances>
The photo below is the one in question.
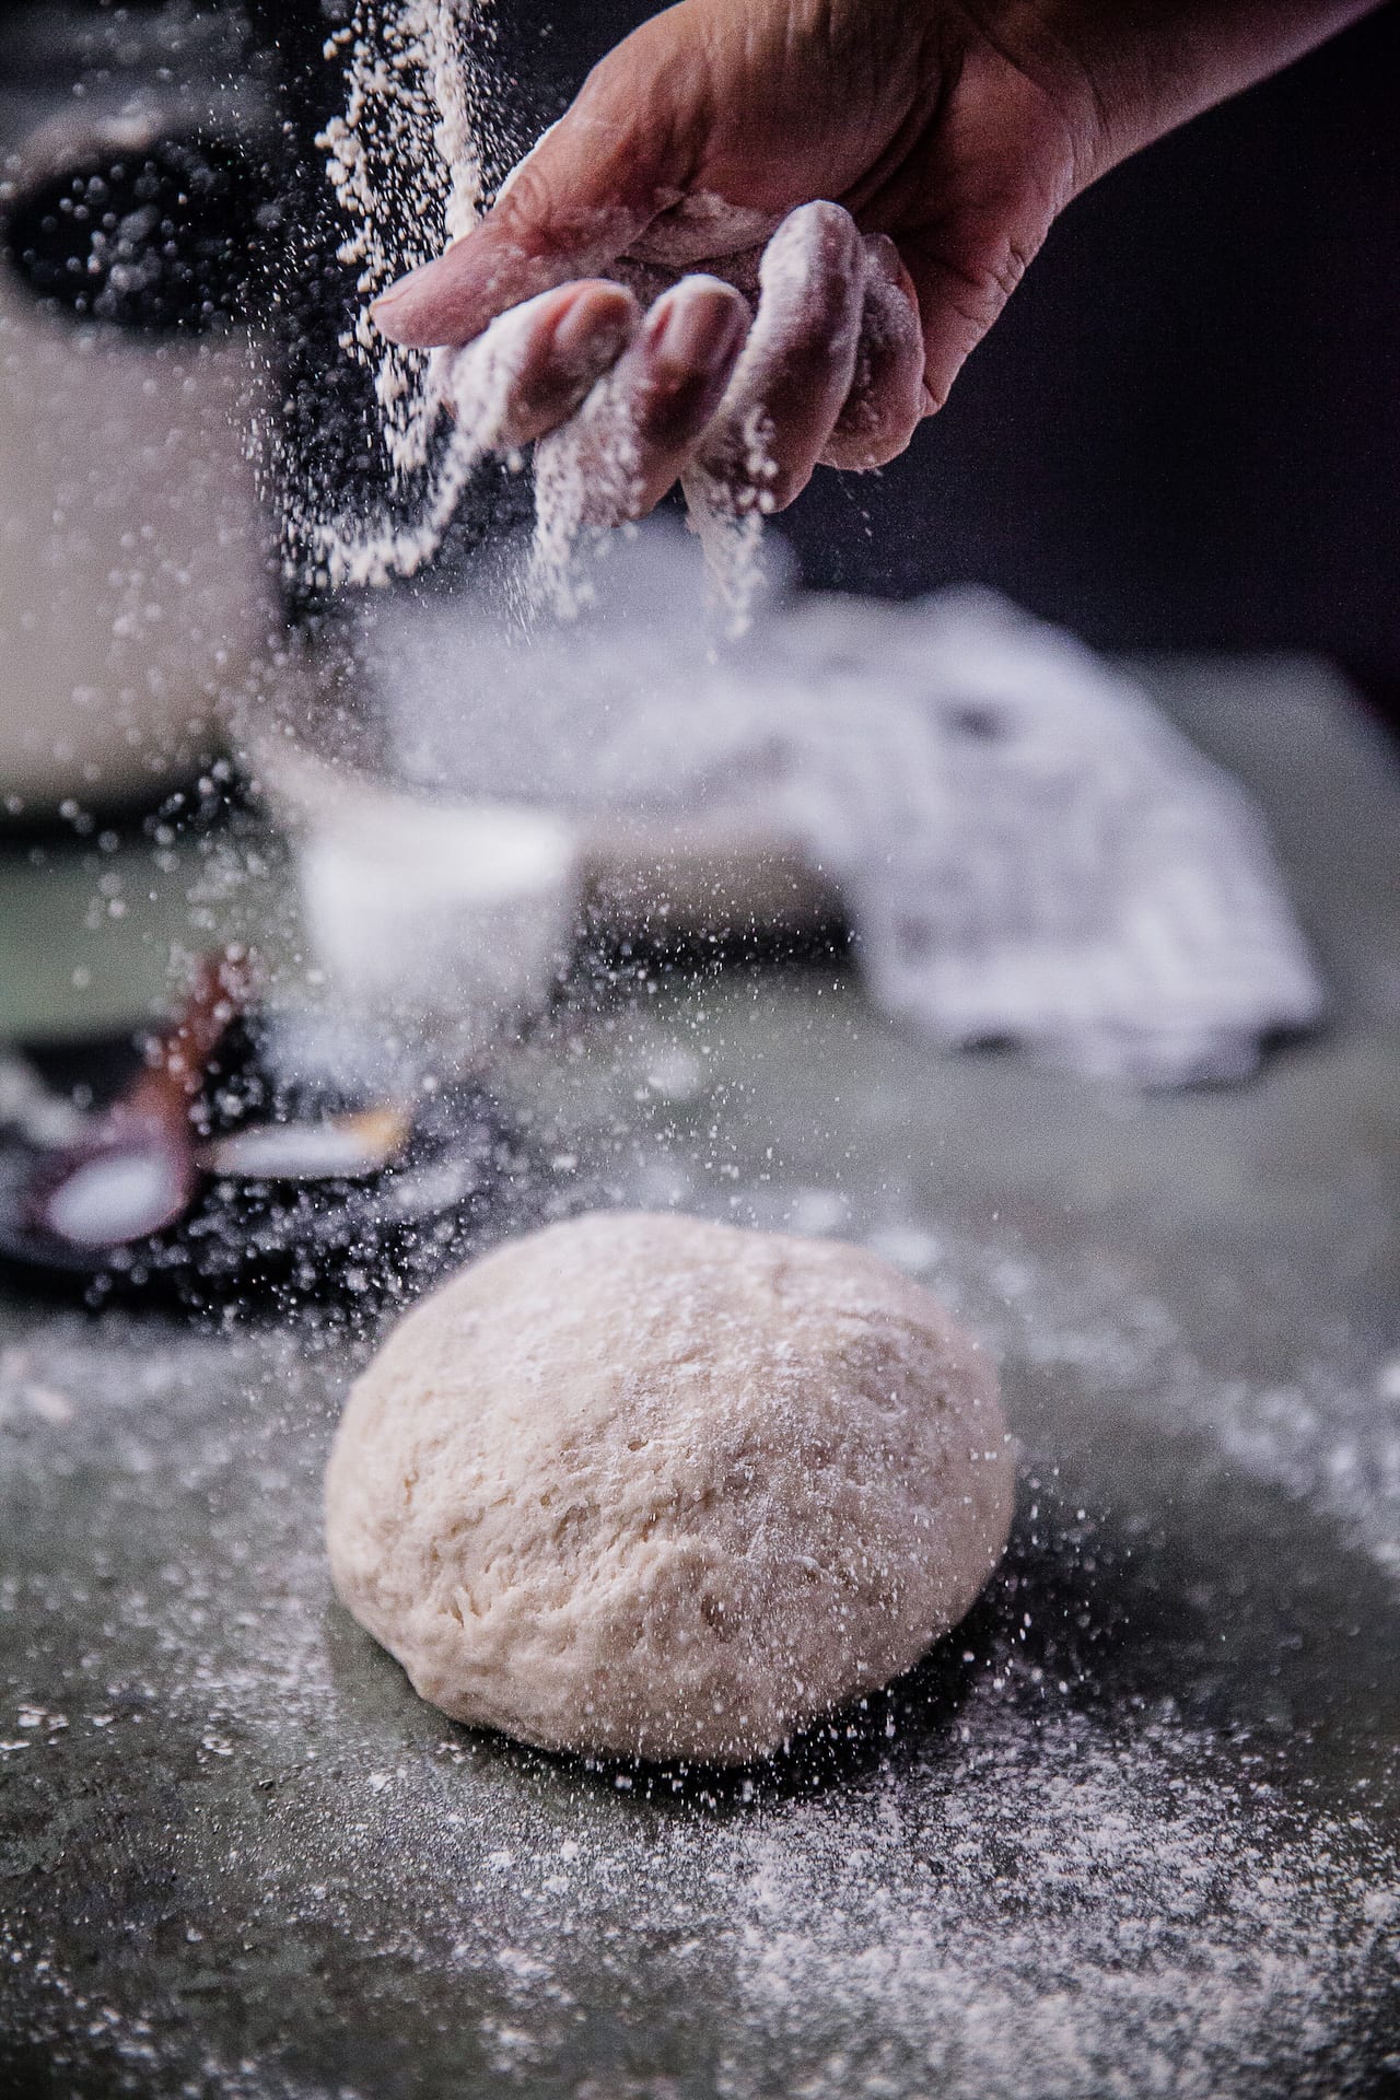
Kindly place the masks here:
<instances>
[{"instance_id":1,"label":"grey-green tabletop dusted with flour around the dough ball","mask_svg":"<svg viewBox=\"0 0 1400 2100\"><path fill-rule=\"evenodd\" d=\"M563 1203L863 1239L1003 1357L1005 1573L781 1766L413 1699L319 1541L363 1342L4 1308L0 2092L1396 2090L1400 785L1320 672L1152 676L1337 989L1257 1084L940 1058L821 968L636 983L508 1063Z\"/></svg>"}]
</instances>

